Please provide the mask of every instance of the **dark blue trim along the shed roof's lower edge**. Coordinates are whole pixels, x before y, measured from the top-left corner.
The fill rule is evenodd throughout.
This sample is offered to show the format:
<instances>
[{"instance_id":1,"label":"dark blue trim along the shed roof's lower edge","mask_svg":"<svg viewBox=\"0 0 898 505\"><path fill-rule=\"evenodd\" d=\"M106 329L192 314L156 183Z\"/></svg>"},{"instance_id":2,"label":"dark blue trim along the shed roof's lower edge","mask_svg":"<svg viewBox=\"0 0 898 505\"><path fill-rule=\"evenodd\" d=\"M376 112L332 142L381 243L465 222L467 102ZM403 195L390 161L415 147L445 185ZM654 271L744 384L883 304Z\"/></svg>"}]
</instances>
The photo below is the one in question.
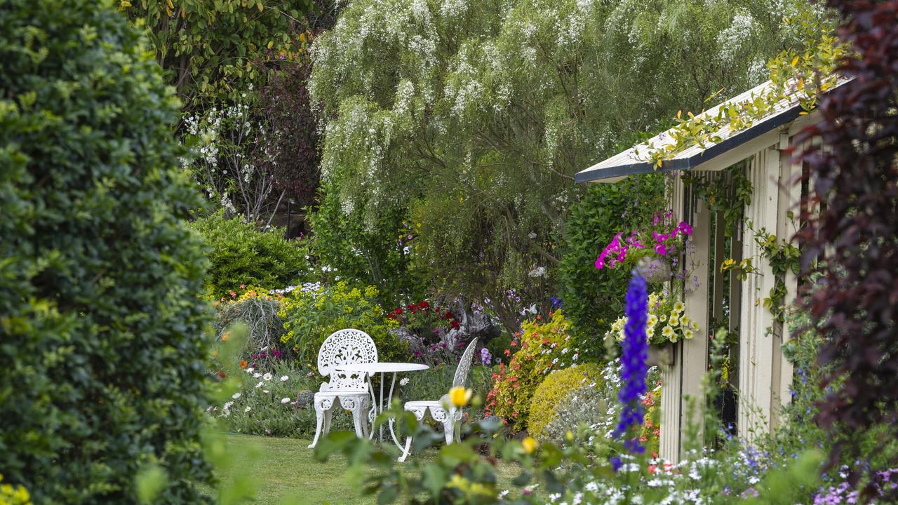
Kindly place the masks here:
<instances>
[{"instance_id":1,"label":"dark blue trim along the shed roof's lower edge","mask_svg":"<svg viewBox=\"0 0 898 505\"><path fill-rule=\"evenodd\" d=\"M776 115L773 115L770 118L755 124L751 128L744 129L743 131L735 133L735 135L726 138L719 144L710 146L708 149L705 149L696 155L691 155L690 157L686 158L674 158L673 160L665 161L661 165L660 170L655 170L654 164L650 162L606 166L592 171L586 169L582 172L579 172L575 174L574 182L601 181L603 179L612 179L613 177L626 177L628 175L638 175L642 173L691 170L691 168L708 162L718 157L719 155L723 155L727 151L741 146L754 138L761 137L763 134L769 132L770 130L779 128L789 122L796 120L798 116L801 115L801 111L802 107L799 104L789 109L780 111Z\"/></svg>"}]
</instances>

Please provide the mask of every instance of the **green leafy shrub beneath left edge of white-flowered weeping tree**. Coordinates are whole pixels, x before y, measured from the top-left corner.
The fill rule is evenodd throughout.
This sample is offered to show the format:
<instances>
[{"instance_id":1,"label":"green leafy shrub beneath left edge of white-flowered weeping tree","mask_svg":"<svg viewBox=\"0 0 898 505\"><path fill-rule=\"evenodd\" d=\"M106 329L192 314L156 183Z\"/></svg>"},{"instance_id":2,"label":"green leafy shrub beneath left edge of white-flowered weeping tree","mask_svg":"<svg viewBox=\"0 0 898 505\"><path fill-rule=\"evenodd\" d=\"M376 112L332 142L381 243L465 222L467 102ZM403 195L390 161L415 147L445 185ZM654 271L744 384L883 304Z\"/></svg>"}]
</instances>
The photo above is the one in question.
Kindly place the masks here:
<instances>
[{"instance_id":1,"label":"green leafy shrub beneath left edge of white-flowered weeping tree","mask_svg":"<svg viewBox=\"0 0 898 505\"><path fill-rule=\"evenodd\" d=\"M411 235L401 208L365 215L359 208L342 207L335 191L323 190L321 204L306 221L313 231L312 252L325 279L377 286L385 306L424 297L405 249Z\"/></svg>"}]
</instances>

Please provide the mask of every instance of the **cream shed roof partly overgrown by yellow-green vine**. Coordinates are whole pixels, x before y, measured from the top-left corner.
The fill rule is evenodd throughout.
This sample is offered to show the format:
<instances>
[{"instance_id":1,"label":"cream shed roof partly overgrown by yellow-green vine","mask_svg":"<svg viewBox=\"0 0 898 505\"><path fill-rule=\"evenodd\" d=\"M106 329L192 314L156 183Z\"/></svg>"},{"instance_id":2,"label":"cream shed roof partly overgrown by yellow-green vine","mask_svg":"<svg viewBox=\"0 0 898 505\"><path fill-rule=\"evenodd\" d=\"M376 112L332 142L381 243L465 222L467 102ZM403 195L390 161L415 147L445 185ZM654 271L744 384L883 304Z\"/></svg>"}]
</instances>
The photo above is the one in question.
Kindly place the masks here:
<instances>
[{"instance_id":1,"label":"cream shed roof partly overgrown by yellow-green vine","mask_svg":"<svg viewBox=\"0 0 898 505\"><path fill-rule=\"evenodd\" d=\"M839 79L832 89L841 86L846 82L848 82L848 79ZM752 101L755 97L766 93L772 86L773 84L770 81L767 81L766 83L755 86L726 102L718 104L708 111L702 112L702 115L716 116L722 106ZM738 146L744 145L746 142L753 140L756 137L760 137L764 133L791 123L801 115L801 111L803 111L803 109L797 96L790 99L784 99L777 103L767 115L759 120L754 120L751 127L734 131L729 127L729 124L727 124L715 132L715 135L721 138L720 142L717 144L706 144L703 147L697 145L687 147L675 155L673 159L665 160L661 165L661 168L656 171L654 168L655 164L648 159L647 153L649 145L661 147L672 144L672 130L667 130L638 146L630 147L626 151L613 155L603 162L594 164L593 166L578 172L575 175L574 180L576 182L615 182L628 175L639 173L691 170Z\"/></svg>"}]
</instances>

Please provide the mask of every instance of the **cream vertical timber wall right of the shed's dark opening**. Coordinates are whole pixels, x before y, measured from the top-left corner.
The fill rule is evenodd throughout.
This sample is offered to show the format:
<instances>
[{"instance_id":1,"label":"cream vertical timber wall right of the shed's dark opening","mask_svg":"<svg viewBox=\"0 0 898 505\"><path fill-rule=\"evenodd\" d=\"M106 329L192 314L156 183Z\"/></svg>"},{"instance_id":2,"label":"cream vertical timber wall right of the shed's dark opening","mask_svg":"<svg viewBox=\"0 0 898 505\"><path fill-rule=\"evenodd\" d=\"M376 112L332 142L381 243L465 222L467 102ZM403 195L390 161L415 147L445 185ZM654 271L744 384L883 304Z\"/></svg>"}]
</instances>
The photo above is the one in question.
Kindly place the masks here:
<instances>
[{"instance_id":1,"label":"cream vertical timber wall right of the shed's dark opening","mask_svg":"<svg viewBox=\"0 0 898 505\"><path fill-rule=\"evenodd\" d=\"M778 236L786 235L779 219L779 213L786 212L779 201L783 191L779 151L767 148L755 153L747 175L753 195L744 213L743 257L753 258L757 271L742 283L738 423L739 433L752 440L776 425L781 401L780 377L787 373L791 377L791 369L783 366L782 325L763 301L770 297L776 279L770 261L762 255L762 248L755 240L755 231L760 234L762 229Z\"/></svg>"}]
</instances>

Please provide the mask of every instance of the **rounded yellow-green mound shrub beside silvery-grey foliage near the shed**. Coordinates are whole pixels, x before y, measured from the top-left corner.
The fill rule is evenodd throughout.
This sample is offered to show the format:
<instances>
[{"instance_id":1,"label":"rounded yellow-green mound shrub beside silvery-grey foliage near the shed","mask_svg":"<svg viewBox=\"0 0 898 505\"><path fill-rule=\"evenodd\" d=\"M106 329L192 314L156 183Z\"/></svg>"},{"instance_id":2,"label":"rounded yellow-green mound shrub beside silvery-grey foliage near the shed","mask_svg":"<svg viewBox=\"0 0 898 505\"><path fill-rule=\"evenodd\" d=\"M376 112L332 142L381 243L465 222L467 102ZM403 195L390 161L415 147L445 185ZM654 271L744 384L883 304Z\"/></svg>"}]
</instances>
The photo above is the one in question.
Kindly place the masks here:
<instances>
[{"instance_id":1,"label":"rounded yellow-green mound shrub beside silvery-grey foliage near the shed","mask_svg":"<svg viewBox=\"0 0 898 505\"><path fill-rule=\"evenodd\" d=\"M593 363L579 367L555 370L546 377L533 392L530 413L527 417L527 431L537 439L544 439L545 428L555 419L555 412L568 394L585 384L601 382L601 368ZM577 428L572 426L571 428Z\"/></svg>"}]
</instances>

